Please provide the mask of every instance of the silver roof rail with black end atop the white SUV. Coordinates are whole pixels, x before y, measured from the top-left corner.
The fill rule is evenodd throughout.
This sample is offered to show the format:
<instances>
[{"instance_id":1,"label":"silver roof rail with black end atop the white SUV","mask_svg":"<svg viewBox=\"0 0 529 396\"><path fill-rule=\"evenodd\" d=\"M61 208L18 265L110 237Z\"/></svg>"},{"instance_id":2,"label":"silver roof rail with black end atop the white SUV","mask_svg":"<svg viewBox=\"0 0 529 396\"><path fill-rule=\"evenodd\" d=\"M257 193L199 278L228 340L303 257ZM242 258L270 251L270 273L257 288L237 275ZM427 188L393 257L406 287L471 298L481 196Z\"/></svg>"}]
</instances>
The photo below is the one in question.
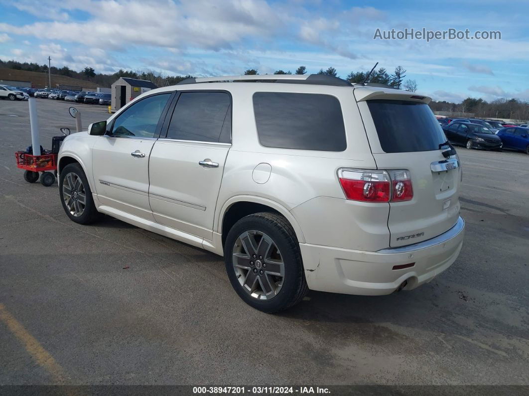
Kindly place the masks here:
<instances>
[{"instance_id":1,"label":"silver roof rail with black end atop the white SUV","mask_svg":"<svg viewBox=\"0 0 529 396\"><path fill-rule=\"evenodd\" d=\"M196 84L201 82L280 82L281 84L311 84L311 85L332 85L351 87L349 81L338 77L324 74L298 75L298 74L265 74L248 76L222 76L222 77L198 77L186 78L178 82L177 85Z\"/></svg>"}]
</instances>

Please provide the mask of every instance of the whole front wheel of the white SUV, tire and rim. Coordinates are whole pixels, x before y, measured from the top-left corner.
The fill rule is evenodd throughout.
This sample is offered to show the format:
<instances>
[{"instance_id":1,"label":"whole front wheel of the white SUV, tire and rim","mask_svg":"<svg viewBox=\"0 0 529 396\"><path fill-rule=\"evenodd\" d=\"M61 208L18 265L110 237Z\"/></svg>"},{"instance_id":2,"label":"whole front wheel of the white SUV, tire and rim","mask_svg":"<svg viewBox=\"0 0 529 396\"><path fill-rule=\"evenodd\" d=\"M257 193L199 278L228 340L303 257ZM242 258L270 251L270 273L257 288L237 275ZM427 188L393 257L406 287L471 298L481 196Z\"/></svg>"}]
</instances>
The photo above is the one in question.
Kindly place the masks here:
<instances>
[{"instance_id":1,"label":"whole front wheel of the white SUV, tire and rim","mask_svg":"<svg viewBox=\"0 0 529 396\"><path fill-rule=\"evenodd\" d=\"M94 223L101 217L94 205L85 172L78 163L71 163L59 176L59 195L66 215L79 224Z\"/></svg>"}]
</instances>

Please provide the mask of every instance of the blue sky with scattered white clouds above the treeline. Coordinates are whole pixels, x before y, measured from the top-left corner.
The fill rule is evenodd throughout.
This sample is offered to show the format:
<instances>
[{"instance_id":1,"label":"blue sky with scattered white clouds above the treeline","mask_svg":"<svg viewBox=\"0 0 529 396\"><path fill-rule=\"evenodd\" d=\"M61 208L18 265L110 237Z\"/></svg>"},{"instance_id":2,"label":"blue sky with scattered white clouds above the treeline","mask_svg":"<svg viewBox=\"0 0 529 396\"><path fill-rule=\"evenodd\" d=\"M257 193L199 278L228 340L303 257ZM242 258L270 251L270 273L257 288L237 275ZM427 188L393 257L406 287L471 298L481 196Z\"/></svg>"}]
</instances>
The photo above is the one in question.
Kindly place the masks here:
<instances>
[{"instance_id":1,"label":"blue sky with scattered white clouds above the treeline","mask_svg":"<svg viewBox=\"0 0 529 396\"><path fill-rule=\"evenodd\" d=\"M0 59L197 76L402 65L437 100L529 101L529 2L0 0ZM500 31L501 40L373 40L381 30Z\"/></svg>"}]
</instances>

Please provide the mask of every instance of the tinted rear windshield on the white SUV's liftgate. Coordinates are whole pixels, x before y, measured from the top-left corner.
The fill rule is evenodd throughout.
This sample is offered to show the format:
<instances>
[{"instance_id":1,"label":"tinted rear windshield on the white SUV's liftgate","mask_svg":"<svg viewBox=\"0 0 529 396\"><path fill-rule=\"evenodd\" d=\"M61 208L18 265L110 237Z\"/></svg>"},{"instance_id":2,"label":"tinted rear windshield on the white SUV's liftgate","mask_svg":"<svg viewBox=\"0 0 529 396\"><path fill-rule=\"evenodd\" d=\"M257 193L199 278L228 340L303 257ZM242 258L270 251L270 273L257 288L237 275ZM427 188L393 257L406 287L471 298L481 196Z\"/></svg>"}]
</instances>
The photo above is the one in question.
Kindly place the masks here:
<instances>
[{"instance_id":1,"label":"tinted rear windshield on the white SUV's liftgate","mask_svg":"<svg viewBox=\"0 0 529 396\"><path fill-rule=\"evenodd\" d=\"M430 107L407 100L368 100L378 139L386 153L439 150L446 142Z\"/></svg>"}]
</instances>

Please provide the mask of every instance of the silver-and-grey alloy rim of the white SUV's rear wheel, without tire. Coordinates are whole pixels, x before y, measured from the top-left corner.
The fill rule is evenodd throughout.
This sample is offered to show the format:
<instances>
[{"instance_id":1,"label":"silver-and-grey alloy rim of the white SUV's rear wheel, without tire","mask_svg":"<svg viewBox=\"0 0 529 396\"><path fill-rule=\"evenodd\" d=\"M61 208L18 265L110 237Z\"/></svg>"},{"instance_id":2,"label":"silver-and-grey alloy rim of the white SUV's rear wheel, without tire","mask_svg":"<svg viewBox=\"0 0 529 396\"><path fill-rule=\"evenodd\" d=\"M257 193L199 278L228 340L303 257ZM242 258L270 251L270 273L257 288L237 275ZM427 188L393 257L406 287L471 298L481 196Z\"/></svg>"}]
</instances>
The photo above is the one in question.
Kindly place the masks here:
<instances>
[{"instance_id":1,"label":"silver-and-grey alloy rim of the white SUV's rear wheel, without tire","mask_svg":"<svg viewBox=\"0 0 529 396\"><path fill-rule=\"evenodd\" d=\"M245 231L235 241L233 270L243 290L258 300L277 296L285 279L285 264L275 242L260 231Z\"/></svg>"}]
</instances>

